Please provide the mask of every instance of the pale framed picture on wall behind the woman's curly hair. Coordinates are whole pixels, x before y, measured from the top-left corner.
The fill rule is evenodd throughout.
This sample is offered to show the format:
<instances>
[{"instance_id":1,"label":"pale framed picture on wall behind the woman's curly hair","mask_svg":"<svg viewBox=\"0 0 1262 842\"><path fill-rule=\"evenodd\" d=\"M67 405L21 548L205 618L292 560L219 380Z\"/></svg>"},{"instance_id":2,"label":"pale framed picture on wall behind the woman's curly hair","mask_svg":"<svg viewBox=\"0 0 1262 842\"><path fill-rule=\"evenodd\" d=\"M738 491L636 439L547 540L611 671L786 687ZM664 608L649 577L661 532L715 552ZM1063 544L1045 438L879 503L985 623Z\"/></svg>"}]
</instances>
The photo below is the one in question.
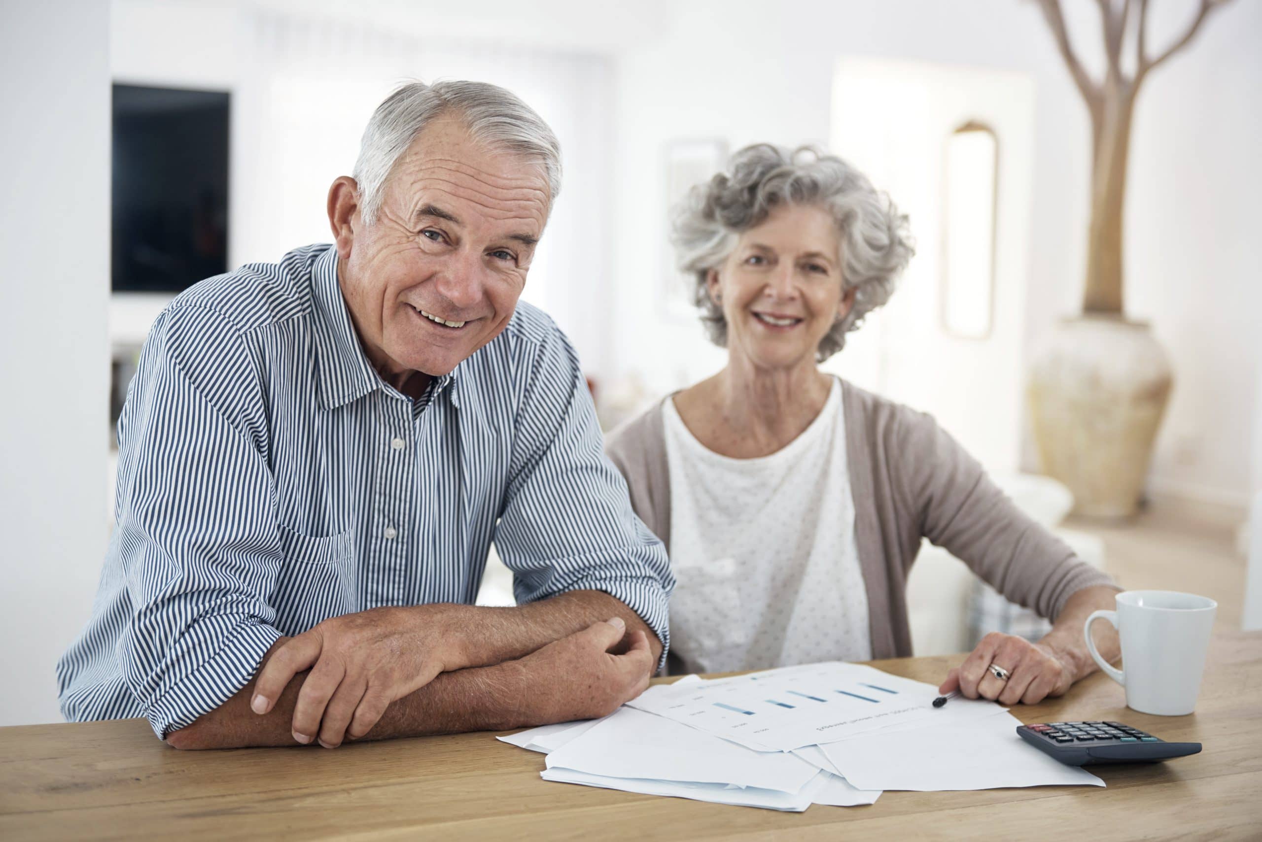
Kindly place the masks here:
<instances>
[{"instance_id":1,"label":"pale framed picture on wall behind the woman's curly hair","mask_svg":"<svg viewBox=\"0 0 1262 842\"><path fill-rule=\"evenodd\" d=\"M688 320L697 316L693 304L693 279L675 267L675 250L670 245L670 223L688 190L708 182L727 164L727 141L718 139L674 140L663 155L663 219L661 268L658 281L658 310L664 315Z\"/></svg>"}]
</instances>

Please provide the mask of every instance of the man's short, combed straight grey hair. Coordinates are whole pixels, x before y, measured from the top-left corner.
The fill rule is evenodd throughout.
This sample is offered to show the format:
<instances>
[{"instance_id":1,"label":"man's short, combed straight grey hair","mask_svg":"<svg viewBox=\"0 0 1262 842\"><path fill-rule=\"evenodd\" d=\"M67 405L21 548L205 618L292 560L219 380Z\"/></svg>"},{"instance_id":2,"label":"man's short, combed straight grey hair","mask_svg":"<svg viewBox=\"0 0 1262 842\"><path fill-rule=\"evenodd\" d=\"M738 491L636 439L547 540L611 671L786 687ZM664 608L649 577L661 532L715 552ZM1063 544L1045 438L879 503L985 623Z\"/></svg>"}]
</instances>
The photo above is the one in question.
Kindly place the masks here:
<instances>
[{"instance_id":1,"label":"man's short, combed straight grey hair","mask_svg":"<svg viewBox=\"0 0 1262 842\"><path fill-rule=\"evenodd\" d=\"M377 106L363 130L355 178L360 216L372 224L395 164L434 118L457 115L473 140L538 161L548 179L549 211L560 193L560 144L535 111L510 91L486 82L409 82Z\"/></svg>"}]
</instances>

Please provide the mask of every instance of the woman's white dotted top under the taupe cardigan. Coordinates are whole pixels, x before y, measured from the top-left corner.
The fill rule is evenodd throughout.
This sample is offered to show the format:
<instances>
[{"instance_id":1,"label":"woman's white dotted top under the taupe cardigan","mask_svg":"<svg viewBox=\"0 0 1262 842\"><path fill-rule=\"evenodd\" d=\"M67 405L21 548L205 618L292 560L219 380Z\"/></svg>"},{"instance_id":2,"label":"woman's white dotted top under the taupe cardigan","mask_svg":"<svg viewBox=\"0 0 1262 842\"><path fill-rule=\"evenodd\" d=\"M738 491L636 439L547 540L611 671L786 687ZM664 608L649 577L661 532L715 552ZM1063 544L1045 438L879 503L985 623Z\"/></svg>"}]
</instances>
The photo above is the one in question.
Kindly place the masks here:
<instances>
[{"instance_id":1,"label":"woman's white dotted top under the taupe cardigan","mask_svg":"<svg viewBox=\"0 0 1262 842\"><path fill-rule=\"evenodd\" d=\"M840 382L789 445L731 459L663 407L670 470L671 654L688 672L872 657Z\"/></svg>"}]
</instances>

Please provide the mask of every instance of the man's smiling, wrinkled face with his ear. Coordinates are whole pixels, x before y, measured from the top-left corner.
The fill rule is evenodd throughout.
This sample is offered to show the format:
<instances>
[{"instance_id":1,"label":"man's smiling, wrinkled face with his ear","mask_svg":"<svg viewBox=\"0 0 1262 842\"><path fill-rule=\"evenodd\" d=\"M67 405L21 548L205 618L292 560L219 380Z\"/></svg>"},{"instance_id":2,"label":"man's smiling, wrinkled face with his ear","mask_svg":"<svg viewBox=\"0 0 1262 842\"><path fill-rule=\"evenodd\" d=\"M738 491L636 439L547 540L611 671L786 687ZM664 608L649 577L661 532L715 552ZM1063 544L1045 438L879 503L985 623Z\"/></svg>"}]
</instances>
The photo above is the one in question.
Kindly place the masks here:
<instances>
[{"instance_id":1,"label":"man's smiling, wrinkled face with his ear","mask_svg":"<svg viewBox=\"0 0 1262 842\"><path fill-rule=\"evenodd\" d=\"M548 203L538 163L487 151L451 117L420 134L376 223L356 211L351 247L339 247L342 294L382 377L399 386L413 372L447 374L504 330Z\"/></svg>"}]
</instances>

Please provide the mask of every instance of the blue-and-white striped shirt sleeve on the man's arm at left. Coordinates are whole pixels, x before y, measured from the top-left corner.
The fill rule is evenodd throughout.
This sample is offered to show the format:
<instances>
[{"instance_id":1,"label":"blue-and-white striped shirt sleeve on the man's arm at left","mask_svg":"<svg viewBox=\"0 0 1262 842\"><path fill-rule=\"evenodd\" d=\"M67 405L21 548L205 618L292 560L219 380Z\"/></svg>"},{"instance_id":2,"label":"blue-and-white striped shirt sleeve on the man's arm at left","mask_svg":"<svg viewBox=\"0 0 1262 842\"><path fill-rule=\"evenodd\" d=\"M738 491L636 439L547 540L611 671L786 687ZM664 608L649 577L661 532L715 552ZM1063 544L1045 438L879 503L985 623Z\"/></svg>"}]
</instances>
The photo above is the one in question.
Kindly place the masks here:
<instances>
[{"instance_id":1,"label":"blue-and-white striped shirt sleeve on the man's arm at left","mask_svg":"<svg viewBox=\"0 0 1262 842\"><path fill-rule=\"evenodd\" d=\"M241 689L280 637L268 604L281 550L264 417L233 326L204 309L168 310L120 425L112 537L131 608L117 658L159 737Z\"/></svg>"}]
</instances>

